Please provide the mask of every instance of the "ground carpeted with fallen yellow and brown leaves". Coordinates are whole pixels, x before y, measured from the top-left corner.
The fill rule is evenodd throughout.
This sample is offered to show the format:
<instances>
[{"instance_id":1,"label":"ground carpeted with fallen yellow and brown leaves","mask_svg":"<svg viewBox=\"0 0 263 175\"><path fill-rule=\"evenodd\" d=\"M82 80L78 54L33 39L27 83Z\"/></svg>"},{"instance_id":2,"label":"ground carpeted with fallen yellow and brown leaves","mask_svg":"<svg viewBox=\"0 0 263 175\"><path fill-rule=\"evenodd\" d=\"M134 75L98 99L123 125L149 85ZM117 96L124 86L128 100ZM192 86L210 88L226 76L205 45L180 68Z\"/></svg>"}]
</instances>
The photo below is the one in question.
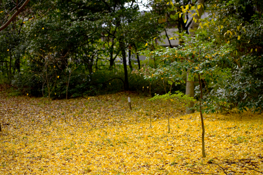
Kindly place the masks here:
<instances>
[{"instance_id":1,"label":"ground carpeted with fallen yellow and brown leaves","mask_svg":"<svg viewBox=\"0 0 263 175\"><path fill-rule=\"evenodd\" d=\"M43 99L1 93L0 174L263 171L262 114L204 115L207 157L202 158L198 113L184 115L182 109L172 106L168 133L167 103L153 103L150 128L146 99L129 93L70 99L67 123L62 115L65 100L53 100L49 126L48 105Z\"/></svg>"}]
</instances>

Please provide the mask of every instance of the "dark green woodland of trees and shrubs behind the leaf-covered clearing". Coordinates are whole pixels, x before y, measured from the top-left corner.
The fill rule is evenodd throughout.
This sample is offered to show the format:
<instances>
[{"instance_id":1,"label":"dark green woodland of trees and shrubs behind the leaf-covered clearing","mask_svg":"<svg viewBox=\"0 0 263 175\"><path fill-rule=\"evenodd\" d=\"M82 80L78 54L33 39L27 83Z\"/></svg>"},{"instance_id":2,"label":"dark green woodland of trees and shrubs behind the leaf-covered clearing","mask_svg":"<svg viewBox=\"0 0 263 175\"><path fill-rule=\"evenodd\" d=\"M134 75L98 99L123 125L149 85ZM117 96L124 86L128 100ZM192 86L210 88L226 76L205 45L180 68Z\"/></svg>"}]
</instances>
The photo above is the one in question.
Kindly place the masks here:
<instances>
[{"instance_id":1,"label":"dark green woodland of trees and shrubs behind the leaf-covered clearing","mask_svg":"<svg viewBox=\"0 0 263 175\"><path fill-rule=\"evenodd\" d=\"M1 21L6 19L6 10L15 7L9 1L3 4ZM143 6L144 11L140 9ZM65 97L67 80L62 71L69 73L65 71L69 62L77 68L72 72L69 97L121 90L143 93L142 87L145 89L148 83L131 75L131 71L143 66L156 68L159 62L138 62L136 53L161 48L157 39L163 42L162 39L170 38L160 35L168 28L188 33L191 13L196 8L200 8L197 1L188 0L149 0L144 4L128 0L30 1L0 33L1 83L12 83L24 95L46 95L47 86L39 75L43 74L43 59L49 57L53 62L47 65L50 76L54 72L59 76L53 98ZM203 42L215 39L215 49L220 50L225 43L234 49L232 65L217 63L223 69L231 68L232 78L227 81L232 86L210 82L204 88L211 95L226 98L241 111L262 111L262 4L244 0L206 1L204 11L198 28ZM164 94L162 85L161 80L154 81L153 94ZM185 85L180 85L173 90L184 89ZM196 84L196 99L199 93Z\"/></svg>"}]
</instances>

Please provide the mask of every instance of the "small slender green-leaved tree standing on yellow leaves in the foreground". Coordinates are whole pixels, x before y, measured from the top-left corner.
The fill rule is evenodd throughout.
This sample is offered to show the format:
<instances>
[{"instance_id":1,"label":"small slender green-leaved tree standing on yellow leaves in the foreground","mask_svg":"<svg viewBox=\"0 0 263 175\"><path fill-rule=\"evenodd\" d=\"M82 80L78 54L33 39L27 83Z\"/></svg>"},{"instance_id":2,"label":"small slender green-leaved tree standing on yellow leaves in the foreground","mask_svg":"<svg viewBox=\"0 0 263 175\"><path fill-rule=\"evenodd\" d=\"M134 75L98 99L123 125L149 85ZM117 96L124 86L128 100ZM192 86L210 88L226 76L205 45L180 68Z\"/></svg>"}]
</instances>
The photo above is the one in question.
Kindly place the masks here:
<instances>
[{"instance_id":1,"label":"small slender green-leaved tree standing on yellow leaves in the foreground","mask_svg":"<svg viewBox=\"0 0 263 175\"><path fill-rule=\"evenodd\" d=\"M222 69L217 67L218 62L226 61L231 64L231 56L229 53L231 49L227 44L221 50L214 50L214 40L211 43L203 43L199 39L199 34L195 32L195 37L191 38L188 34L180 34L184 40L184 44L177 48L165 48L154 51L141 51L146 55L147 59L155 58L155 60L162 61L156 69L140 69L133 71L136 74L143 74L144 79L153 81L158 78L168 79L170 85L186 83L187 81L194 81L199 83L200 98L195 100L193 97L184 95L182 92L177 91L175 94L168 92L165 95L155 95L152 100L170 100L172 103L181 103L189 106L194 102L193 108L200 112L202 124L202 155L205 154L205 126L203 120L203 113L214 113L217 105L229 105L223 97L216 97L212 95L203 95L205 90L203 84L214 83L219 85L227 85L227 79L231 76L231 70L226 68ZM188 80L184 80L184 74L188 71Z\"/></svg>"}]
</instances>

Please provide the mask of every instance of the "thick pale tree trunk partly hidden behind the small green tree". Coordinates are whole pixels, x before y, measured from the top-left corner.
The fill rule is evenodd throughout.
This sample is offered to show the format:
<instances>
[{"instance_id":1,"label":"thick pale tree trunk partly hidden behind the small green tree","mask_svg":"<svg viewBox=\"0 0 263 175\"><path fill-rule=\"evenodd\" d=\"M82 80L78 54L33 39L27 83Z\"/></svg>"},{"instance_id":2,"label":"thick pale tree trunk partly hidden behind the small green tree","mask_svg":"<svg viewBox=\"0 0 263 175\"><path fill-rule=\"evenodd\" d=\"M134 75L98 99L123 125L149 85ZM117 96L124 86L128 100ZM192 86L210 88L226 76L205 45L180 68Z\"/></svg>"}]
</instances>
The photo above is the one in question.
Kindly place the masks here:
<instances>
[{"instance_id":1,"label":"thick pale tree trunk partly hidden behind the small green tree","mask_svg":"<svg viewBox=\"0 0 263 175\"><path fill-rule=\"evenodd\" d=\"M203 4L204 6L205 0L198 0L197 3ZM195 15L195 19L199 20L201 18L201 15L203 14L203 11L204 11L203 6L201 6L201 8L198 9L199 16ZM192 20L191 24L189 25L189 29L191 29L191 31L189 31L189 34L191 35L191 37L194 37L195 35L194 31L197 30L198 25L199 25L199 21L195 22L194 20ZM188 72L189 72L189 69L188 69ZM187 77L186 77L187 81L188 81L188 72L187 72ZM195 94L194 89L195 89L195 85L193 82L186 82L186 93L185 93L186 95L189 95L189 97L193 97ZM190 114L194 112L194 110L188 111L188 108L191 108L191 107L193 107L193 104L186 107L186 113Z\"/></svg>"}]
</instances>

